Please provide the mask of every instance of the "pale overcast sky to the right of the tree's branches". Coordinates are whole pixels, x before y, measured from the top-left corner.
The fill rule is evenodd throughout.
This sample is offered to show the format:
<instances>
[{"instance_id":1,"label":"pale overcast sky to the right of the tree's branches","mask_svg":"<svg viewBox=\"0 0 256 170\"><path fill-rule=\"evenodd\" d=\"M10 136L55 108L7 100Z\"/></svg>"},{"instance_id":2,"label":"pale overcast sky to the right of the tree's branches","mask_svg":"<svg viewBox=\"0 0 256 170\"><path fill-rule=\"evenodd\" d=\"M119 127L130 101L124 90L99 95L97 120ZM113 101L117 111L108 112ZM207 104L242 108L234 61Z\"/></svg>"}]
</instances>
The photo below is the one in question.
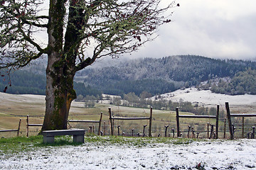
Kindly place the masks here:
<instances>
[{"instance_id":1,"label":"pale overcast sky to the right of the tree's branches","mask_svg":"<svg viewBox=\"0 0 256 170\"><path fill-rule=\"evenodd\" d=\"M255 0L179 0L174 21L132 57L202 55L256 59ZM131 56L130 56L131 57Z\"/></svg>"}]
</instances>

